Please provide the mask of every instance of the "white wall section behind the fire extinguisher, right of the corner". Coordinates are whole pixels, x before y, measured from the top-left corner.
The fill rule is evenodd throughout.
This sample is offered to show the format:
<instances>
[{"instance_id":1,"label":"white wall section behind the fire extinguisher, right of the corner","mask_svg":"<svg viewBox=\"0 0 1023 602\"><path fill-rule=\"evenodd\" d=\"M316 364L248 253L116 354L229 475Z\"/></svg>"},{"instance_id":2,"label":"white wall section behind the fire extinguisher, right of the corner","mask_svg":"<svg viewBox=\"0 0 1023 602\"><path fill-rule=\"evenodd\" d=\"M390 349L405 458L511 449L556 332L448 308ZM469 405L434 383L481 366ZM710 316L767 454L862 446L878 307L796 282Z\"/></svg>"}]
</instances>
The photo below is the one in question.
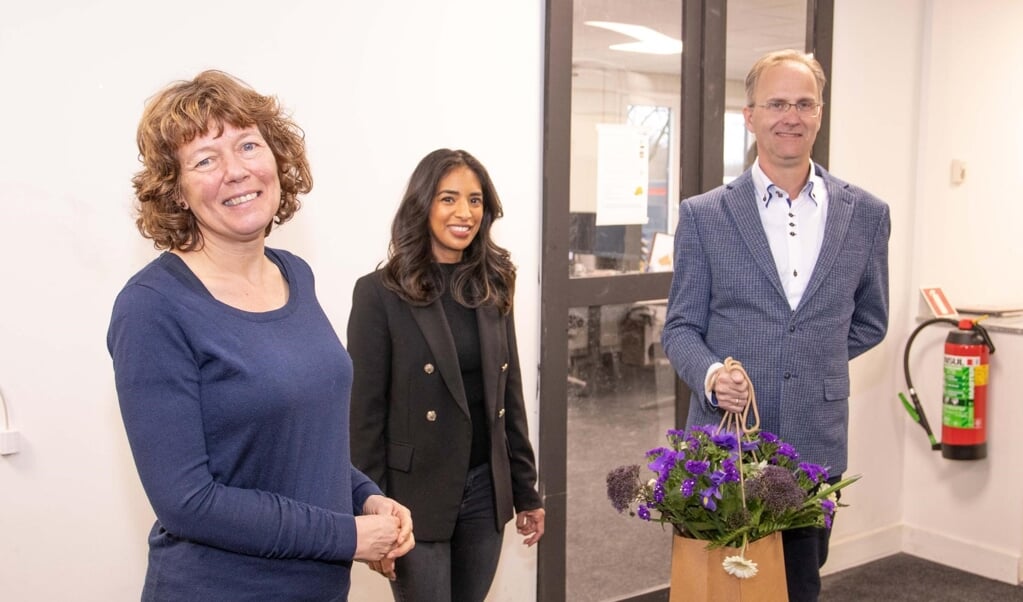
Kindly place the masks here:
<instances>
[{"instance_id":1,"label":"white wall section behind the fire extinguisher, right of the corner","mask_svg":"<svg viewBox=\"0 0 1023 602\"><path fill-rule=\"evenodd\" d=\"M924 13L913 285L940 286L952 303L1023 302L1023 61L1015 0L932 0ZM949 163L967 162L949 182ZM911 291L910 291L911 293ZM913 295L910 305L916 302ZM933 332L932 332L933 331ZM941 344L933 328L914 343L914 384L941 422ZM942 460L907 424L903 549L1009 583L1023 578L1023 336L991 334L988 458ZM919 350L918 350L919 349ZM937 502L937 503L936 503Z\"/></svg>"}]
</instances>

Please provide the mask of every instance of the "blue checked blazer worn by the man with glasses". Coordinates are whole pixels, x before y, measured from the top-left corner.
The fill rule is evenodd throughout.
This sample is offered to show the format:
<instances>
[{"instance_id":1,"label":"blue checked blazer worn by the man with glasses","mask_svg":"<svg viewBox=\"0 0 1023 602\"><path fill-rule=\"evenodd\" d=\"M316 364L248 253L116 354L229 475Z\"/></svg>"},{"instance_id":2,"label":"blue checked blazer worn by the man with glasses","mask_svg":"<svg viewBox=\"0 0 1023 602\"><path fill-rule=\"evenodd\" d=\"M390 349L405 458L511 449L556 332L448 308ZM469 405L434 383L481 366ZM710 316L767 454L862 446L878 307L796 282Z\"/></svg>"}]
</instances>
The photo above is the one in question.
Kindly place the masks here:
<instances>
[{"instance_id":1,"label":"blue checked blazer worn by the man with glasses","mask_svg":"<svg viewBox=\"0 0 1023 602\"><path fill-rule=\"evenodd\" d=\"M662 344L693 391L687 426L717 424L707 369L731 356L750 376L760 428L836 476L846 470L849 360L888 330L888 206L814 165L828 188L817 263L799 306L786 299L747 170L683 201Z\"/></svg>"}]
</instances>

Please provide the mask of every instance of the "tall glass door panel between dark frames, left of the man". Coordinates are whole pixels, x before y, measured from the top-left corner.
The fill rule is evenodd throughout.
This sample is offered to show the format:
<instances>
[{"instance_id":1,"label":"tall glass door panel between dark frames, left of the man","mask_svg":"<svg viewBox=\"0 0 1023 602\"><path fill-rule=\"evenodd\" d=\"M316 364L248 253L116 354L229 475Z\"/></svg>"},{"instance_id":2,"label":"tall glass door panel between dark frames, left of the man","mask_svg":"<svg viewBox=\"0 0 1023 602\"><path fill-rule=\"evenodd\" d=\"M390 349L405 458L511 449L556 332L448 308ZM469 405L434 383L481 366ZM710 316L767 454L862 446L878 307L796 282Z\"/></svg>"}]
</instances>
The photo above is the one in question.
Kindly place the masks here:
<instances>
[{"instance_id":1,"label":"tall glass door panel between dark frames, left of the man","mask_svg":"<svg viewBox=\"0 0 1023 602\"><path fill-rule=\"evenodd\" d=\"M681 10L573 2L566 600L628 598L663 587L670 569L670 529L618 514L606 476L641 462L675 423L660 332L677 221ZM602 300L594 286L628 294Z\"/></svg>"}]
</instances>

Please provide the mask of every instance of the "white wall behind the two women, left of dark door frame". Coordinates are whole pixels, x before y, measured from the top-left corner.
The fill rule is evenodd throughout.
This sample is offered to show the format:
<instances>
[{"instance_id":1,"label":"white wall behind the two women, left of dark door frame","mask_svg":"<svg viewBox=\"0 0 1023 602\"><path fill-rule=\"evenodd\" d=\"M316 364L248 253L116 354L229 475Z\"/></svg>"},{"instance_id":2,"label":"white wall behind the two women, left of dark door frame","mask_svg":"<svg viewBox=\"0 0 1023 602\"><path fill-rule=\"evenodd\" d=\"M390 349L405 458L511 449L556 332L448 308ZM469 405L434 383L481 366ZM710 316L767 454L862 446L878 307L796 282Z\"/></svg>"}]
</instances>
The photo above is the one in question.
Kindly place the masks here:
<instances>
[{"instance_id":1,"label":"white wall behind the two women, left of dark door frame","mask_svg":"<svg viewBox=\"0 0 1023 602\"><path fill-rule=\"evenodd\" d=\"M0 390L23 450L0 458L0 599L138 599L152 514L104 337L115 295L155 254L134 228L130 178L143 101L173 79L223 69L305 128L315 186L269 244L312 264L343 337L351 286L385 257L416 161L440 146L479 157L519 265L522 362L536 363L542 2L43 0L2 12ZM535 371L524 381L535 441ZM493 600L532 597L535 548L513 534ZM353 579L354 600L389 599L379 575Z\"/></svg>"}]
</instances>

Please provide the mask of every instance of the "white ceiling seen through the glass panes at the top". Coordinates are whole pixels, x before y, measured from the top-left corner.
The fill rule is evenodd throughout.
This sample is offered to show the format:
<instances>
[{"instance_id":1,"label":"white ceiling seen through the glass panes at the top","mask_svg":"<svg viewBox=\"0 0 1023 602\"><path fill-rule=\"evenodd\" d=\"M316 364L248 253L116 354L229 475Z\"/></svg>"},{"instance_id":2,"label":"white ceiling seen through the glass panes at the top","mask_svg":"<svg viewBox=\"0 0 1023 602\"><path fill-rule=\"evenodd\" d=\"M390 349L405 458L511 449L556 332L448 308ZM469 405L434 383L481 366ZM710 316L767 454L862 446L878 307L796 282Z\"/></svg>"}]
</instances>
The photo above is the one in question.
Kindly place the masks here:
<instances>
[{"instance_id":1,"label":"white ceiling seen through the glass panes at the top","mask_svg":"<svg viewBox=\"0 0 1023 602\"><path fill-rule=\"evenodd\" d=\"M647 26L681 39L684 0L575 0L573 64L595 69L649 73L679 73L677 55L637 54L608 48L632 38L583 25L610 20ZM803 48L806 38L806 0L727 0L725 61L728 79L743 80L763 53ZM684 51L684 50L683 50Z\"/></svg>"}]
</instances>

